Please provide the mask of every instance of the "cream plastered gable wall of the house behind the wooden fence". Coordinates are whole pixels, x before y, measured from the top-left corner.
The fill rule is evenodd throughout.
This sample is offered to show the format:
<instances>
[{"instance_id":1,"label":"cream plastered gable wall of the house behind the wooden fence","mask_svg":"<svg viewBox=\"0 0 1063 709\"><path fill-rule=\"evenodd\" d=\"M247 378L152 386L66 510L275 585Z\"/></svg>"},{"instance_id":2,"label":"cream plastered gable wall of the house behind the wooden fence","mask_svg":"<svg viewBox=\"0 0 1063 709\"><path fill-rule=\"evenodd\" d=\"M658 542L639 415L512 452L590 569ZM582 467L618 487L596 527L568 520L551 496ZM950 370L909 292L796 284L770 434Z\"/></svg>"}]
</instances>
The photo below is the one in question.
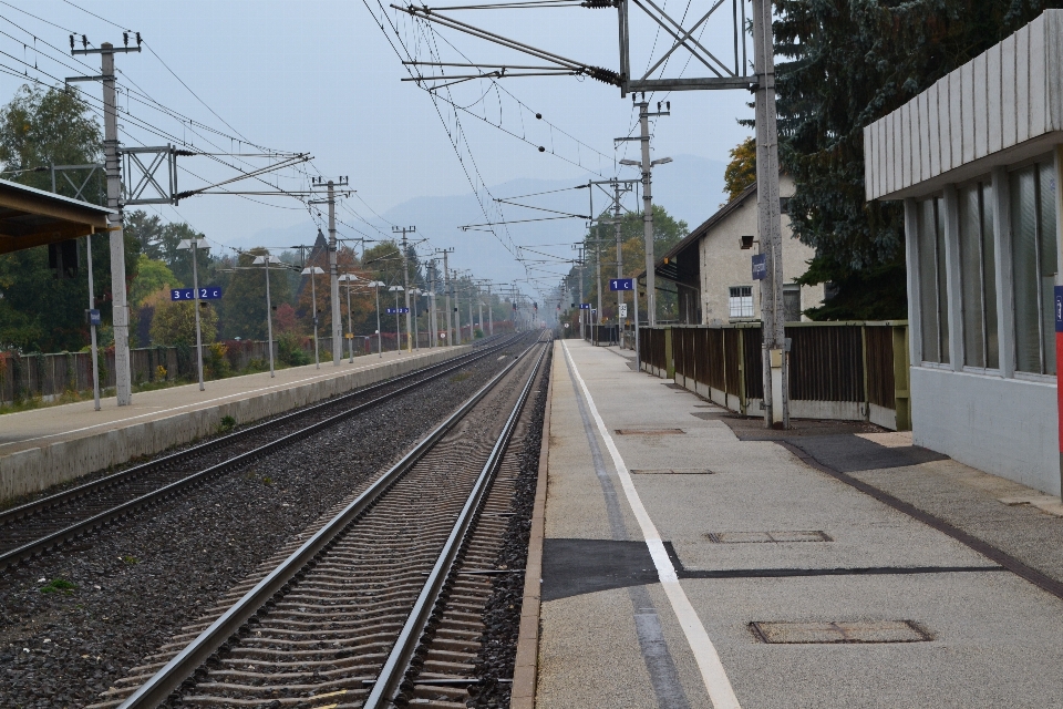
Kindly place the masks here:
<instances>
[{"instance_id":1,"label":"cream plastered gable wall of the house behind the wooden fence","mask_svg":"<svg viewBox=\"0 0 1063 709\"><path fill-rule=\"evenodd\" d=\"M780 194L788 197L794 194L794 181L788 175L780 176ZM806 261L816 254L815 249L792 238L789 215L783 215L783 277L793 282L808 269ZM752 249L739 248L740 237L756 235L756 193L747 198L734 212L715 224L700 239L701 258L701 323L712 325L732 322L727 299L732 286L753 287L753 317L742 320L761 319L760 285L753 280L752 256L758 253L757 244ZM816 307L823 302L823 286L805 286L801 289L801 309ZM807 319L807 318L802 318Z\"/></svg>"}]
</instances>

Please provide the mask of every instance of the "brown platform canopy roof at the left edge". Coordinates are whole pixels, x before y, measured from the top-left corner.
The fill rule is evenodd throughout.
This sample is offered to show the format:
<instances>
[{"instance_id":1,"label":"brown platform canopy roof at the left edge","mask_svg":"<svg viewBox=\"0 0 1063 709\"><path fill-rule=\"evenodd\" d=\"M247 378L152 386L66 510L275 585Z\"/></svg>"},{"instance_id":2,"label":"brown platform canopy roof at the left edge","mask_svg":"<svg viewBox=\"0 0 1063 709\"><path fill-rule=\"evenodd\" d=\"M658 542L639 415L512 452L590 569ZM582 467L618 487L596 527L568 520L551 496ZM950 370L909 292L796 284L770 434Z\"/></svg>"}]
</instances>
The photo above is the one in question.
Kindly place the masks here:
<instances>
[{"instance_id":1,"label":"brown platform canopy roof at the left edge","mask_svg":"<svg viewBox=\"0 0 1063 709\"><path fill-rule=\"evenodd\" d=\"M87 202L0 179L0 254L110 230L117 214Z\"/></svg>"}]
</instances>

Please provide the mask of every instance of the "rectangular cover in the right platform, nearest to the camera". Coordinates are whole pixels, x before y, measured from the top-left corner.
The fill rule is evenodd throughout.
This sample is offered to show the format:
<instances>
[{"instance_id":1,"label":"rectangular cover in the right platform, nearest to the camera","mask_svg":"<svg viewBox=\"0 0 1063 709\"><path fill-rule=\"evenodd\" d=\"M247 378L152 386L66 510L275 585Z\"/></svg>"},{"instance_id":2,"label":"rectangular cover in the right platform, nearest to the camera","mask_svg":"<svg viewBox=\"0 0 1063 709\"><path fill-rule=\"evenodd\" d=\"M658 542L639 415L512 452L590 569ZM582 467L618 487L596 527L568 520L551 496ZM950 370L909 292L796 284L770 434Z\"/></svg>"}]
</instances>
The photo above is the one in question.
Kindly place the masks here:
<instances>
[{"instance_id":1,"label":"rectangular cover in the right platform, nearest to the camera","mask_svg":"<svg viewBox=\"0 0 1063 709\"><path fill-rule=\"evenodd\" d=\"M753 635L770 645L858 643L928 643L933 638L915 620L842 620L835 623L751 623Z\"/></svg>"}]
</instances>

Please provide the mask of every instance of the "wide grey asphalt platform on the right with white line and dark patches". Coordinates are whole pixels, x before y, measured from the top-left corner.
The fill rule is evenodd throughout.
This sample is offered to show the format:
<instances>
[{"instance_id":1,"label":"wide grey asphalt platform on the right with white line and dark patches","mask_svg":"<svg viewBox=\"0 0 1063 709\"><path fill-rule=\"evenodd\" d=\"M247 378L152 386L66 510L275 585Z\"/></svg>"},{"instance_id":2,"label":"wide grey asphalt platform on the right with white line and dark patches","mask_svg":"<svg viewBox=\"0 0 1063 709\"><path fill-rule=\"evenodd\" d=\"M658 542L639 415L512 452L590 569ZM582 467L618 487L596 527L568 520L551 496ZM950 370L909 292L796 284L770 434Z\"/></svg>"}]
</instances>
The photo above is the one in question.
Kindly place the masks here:
<instances>
[{"instance_id":1,"label":"wide grey asphalt platform on the right with white line and dark patches","mask_svg":"<svg viewBox=\"0 0 1063 709\"><path fill-rule=\"evenodd\" d=\"M1063 706L1059 499L555 348L516 709Z\"/></svg>"}]
</instances>

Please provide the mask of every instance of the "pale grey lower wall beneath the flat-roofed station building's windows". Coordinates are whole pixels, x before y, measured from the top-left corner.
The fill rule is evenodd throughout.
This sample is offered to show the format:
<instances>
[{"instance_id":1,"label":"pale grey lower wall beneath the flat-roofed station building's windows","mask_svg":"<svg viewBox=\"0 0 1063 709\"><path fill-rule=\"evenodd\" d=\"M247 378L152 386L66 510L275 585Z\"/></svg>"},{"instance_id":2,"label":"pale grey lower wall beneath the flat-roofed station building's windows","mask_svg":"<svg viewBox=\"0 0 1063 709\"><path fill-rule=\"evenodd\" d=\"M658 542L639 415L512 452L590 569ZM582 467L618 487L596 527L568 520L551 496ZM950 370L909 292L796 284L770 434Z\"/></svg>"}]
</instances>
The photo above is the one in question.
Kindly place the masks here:
<instances>
[{"instance_id":1,"label":"pale grey lower wall beneath the flat-roofed station building's windows","mask_svg":"<svg viewBox=\"0 0 1063 709\"><path fill-rule=\"evenodd\" d=\"M912 442L1060 494L1055 386L911 368Z\"/></svg>"}]
</instances>

